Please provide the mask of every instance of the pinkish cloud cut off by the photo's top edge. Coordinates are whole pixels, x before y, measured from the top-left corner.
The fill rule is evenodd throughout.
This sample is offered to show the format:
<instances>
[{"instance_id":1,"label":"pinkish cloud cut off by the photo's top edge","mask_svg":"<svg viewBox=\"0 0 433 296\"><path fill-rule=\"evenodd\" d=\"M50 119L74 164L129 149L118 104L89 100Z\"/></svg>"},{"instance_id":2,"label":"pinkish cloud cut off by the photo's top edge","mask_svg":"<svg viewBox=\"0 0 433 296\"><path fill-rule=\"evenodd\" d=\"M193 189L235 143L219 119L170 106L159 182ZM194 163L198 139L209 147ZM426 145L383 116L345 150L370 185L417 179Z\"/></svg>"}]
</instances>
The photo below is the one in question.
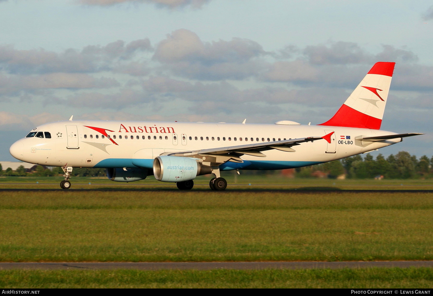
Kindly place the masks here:
<instances>
[{"instance_id":1,"label":"pinkish cloud cut off by the photo's top edge","mask_svg":"<svg viewBox=\"0 0 433 296\"><path fill-rule=\"evenodd\" d=\"M201 8L204 3L210 0L79 0L78 2L86 5L110 6L120 3L154 3L157 7L180 8L191 6L192 8Z\"/></svg>"}]
</instances>

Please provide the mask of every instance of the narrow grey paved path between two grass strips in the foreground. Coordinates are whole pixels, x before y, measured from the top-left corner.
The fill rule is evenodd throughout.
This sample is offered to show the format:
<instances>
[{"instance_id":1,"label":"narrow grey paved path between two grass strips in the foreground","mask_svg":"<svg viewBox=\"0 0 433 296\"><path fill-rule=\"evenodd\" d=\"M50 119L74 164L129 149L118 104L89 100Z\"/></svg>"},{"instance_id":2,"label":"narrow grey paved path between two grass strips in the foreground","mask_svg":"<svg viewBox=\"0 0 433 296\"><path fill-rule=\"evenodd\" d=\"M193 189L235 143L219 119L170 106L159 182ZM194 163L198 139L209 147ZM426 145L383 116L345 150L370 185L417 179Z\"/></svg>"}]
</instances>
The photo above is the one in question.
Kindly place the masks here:
<instances>
[{"instance_id":1,"label":"narrow grey paved path between two grass strips in the foreground","mask_svg":"<svg viewBox=\"0 0 433 296\"><path fill-rule=\"evenodd\" d=\"M42 270L98 270L98 269L340 269L370 267L433 267L433 261L379 261L379 262L53 262L53 263L0 263L5 269Z\"/></svg>"}]
</instances>

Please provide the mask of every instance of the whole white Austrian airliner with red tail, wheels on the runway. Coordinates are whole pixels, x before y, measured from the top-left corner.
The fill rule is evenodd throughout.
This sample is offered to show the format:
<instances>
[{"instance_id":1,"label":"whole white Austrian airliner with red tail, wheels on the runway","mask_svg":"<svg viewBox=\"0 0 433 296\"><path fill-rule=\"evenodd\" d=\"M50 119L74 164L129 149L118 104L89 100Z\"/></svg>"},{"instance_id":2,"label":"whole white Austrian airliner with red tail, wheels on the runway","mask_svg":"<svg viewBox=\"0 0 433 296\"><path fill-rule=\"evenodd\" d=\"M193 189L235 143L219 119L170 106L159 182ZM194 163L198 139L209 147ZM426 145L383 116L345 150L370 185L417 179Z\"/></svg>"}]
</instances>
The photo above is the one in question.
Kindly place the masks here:
<instances>
[{"instance_id":1,"label":"whole white Austrian airliner with red tail, wheels on the runway","mask_svg":"<svg viewBox=\"0 0 433 296\"><path fill-rule=\"evenodd\" d=\"M62 167L71 188L74 167L107 169L116 182L153 175L190 190L213 174L211 190L225 190L221 171L281 170L368 153L421 133L381 130L394 62L377 62L337 113L319 125L69 120L39 125L10 147L20 161Z\"/></svg>"}]
</instances>

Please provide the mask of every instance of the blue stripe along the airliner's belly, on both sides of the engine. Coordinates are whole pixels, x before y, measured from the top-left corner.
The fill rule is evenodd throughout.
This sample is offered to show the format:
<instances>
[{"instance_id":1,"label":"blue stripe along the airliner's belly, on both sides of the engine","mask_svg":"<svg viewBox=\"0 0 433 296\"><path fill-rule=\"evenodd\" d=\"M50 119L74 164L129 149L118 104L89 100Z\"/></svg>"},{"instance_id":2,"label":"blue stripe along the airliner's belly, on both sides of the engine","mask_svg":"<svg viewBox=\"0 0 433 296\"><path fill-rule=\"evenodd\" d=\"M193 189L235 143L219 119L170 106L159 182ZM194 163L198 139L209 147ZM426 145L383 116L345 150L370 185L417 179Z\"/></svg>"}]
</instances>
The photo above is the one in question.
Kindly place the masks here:
<instances>
[{"instance_id":1,"label":"blue stripe along the airliner's belly, on both sides of the engine","mask_svg":"<svg viewBox=\"0 0 433 296\"><path fill-rule=\"evenodd\" d=\"M243 163L228 161L220 165L220 170L284 170L321 163L322 161L244 161ZM107 158L95 164L94 167L142 167L152 169L153 159Z\"/></svg>"}]
</instances>

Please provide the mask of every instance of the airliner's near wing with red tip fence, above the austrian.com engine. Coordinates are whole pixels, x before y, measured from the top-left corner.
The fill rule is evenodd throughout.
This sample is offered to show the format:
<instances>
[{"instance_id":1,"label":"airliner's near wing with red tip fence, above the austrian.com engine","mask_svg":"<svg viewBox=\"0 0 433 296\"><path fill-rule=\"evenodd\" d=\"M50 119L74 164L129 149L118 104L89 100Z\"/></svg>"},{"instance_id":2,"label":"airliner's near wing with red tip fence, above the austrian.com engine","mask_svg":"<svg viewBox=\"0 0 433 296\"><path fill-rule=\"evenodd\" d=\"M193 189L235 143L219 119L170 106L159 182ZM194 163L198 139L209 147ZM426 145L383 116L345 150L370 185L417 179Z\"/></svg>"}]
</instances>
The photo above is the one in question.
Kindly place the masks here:
<instances>
[{"instance_id":1,"label":"airliner's near wing with red tip fence, above the austrian.com engine","mask_svg":"<svg viewBox=\"0 0 433 296\"><path fill-rule=\"evenodd\" d=\"M202 156L210 156L214 163L224 163L226 161L243 162L240 156L247 154L252 156L266 157L261 151L277 149L286 152L296 152L292 147L300 145L304 142L313 142L321 140L323 138L330 138L330 135L324 137L307 137L290 139L283 141L273 141L273 142L262 142L262 143L251 143L245 145L228 146L220 148L210 148L201 149L194 151L179 151L179 152L168 152L162 155L170 156L183 156L183 157L197 157L202 158Z\"/></svg>"}]
</instances>

